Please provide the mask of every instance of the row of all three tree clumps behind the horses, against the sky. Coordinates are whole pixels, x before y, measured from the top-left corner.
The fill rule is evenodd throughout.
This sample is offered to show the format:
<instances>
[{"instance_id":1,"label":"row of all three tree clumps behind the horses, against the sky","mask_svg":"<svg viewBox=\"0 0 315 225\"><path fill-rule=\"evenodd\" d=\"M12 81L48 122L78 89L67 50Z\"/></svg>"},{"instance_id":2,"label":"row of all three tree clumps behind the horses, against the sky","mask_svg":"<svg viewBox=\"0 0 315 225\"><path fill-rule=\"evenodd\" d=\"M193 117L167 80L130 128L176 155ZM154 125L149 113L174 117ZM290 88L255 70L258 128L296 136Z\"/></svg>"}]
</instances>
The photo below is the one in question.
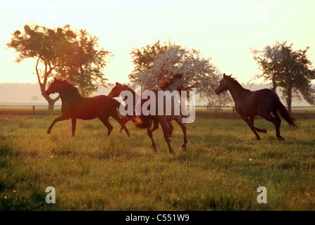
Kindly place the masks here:
<instances>
[{"instance_id":1,"label":"row of all three tree clumps behind the horses, against the sky","mask_svg":"<svg viewBox=\"0 0 315 225\"><path fill-rule=\"evenodd\" d=\"M47 84L52 77L68 79L77 84L82 96L97 90L98 84L106 86L105 68L113 53L99 46L99 38L87 30L74 30L70 25L50 29L36 24L25 25L23 32L13 32L8 48L18 53L16 62L27 58L35 60L35 74L42 96L54 109L57 98L46 96ZM261 70L254 79L264 78L271 82L272 89L280 89L291 112L293 98L304 98L315 105L315 90L311 80L315 69L307 58L309 47L297 51L288 41L276 41L262 50L251 49L254 60ZM188 90L194 90L209 105L230 103L230 95L215 95L223 72L211 58L204 58L196 49L188 49L171 41L156 41L130 53L134 68L128 78L131 84L140 84L144 89L158 86L169 72L184 72Z\"/></svg>"}]
</instances>

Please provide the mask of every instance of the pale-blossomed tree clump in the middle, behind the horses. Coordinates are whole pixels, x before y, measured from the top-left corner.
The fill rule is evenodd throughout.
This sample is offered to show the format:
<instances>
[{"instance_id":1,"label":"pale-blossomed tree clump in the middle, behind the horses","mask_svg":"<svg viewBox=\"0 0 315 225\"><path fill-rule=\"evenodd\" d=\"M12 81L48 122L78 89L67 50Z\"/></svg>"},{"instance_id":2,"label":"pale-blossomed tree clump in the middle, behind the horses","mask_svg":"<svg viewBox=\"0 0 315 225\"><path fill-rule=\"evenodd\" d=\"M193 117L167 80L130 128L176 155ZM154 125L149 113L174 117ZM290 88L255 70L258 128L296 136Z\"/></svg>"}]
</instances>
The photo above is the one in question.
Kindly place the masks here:
<instances>
[{"instance_id":1,"label":"pale-blossomed tree clump in the middle, behind the horses","mask_svg":"<svg viewBox=\"0 0 315 225\"><path fill-rule=\"evenodd\" d=\"M221 80L221 73L211 63L211 58L202 57L200 51L183 48L171 41L147 45L133 49L132 63L135 68L128 76L132 84L140 84L144 89L159 86L170 72L184 72L187 91L195 90L200 98L207 99L209 105L230 103L230 96L216 96L214 89Z\"/></svg>"}]
</instances>

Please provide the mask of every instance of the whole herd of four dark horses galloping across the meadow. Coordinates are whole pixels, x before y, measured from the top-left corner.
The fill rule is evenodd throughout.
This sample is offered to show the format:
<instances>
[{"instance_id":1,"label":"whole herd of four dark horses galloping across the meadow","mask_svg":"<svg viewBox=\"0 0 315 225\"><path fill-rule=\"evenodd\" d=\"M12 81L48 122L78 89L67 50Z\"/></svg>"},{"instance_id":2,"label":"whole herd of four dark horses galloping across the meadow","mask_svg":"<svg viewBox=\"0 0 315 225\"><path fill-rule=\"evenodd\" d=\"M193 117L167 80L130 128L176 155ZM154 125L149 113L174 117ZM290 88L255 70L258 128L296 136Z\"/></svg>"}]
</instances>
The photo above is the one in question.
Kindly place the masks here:
<instances>
[{"instance_id":1,"label":"whole herd of four dark horses galloping across the meadow","mask_svg":"<svg viewBox=\"0 0 315 225\"><path fill-rule=\"evenodd\" d=\"M121 118L118 114L118 109L121 103L114 98L120 96L122 91L131 91L134 101L134 109L132 115L125 115ZM156 98L158 96L158 91L179 91L179 93L180 91L185 91L183 73L171 73L171 76L169 76L168 79L165 79L159 83L159 89L152 89L150 91L153 91L156 94ZM268 120L275 125L276 136L280 141L284 140L284 138L283 136L280 136L281 120L278 113L280 113L283 119L288 122L291 128L297 128L297 125L295 124L295 117L292 117L292 115L288 113L285 106L280 102L278 95L271 89L249 91L248 89L244 89L240 83L236 81L236 79L224 74L223 79L221 79L221 82L215 92L219 95L221 93L225 93L226 91L230 91L230 94L235 101L236 112L239 113L240 117L242 117L242 120L244 120L249 125L250 129L252 129L258 140L260 139L260 136L257 134L257 132L266 134L266 129L254 127L254 117L257 115L263 117L265 120ZM182 122L183 115L181 113L180 115L175 113L172 113L171 115L158 115L158 105L156 105L155 115L136 115L136 93L127 85L116 82L116 86L113 87L108 96L100 95L85 98L80 95L79 89L74 84L68 82L66 79L55 78L47 89L46 95L49 96L50 94L54 94L56 92L58 92L62 101L62 115L57 117L51 123L47 134L51 133L51 129L56 122L69 120L71 118L72 135L74 136L77 119L92 120L94 118L99 118L99 120L101 120L101 122L108 129L107 135L109 135L113 130L113 126L109 123L109 117L113 117L114 120L121 124L121 131L125 130L125 133L128 136L130 136L130 133L125 126L125 123L129 120L131 120L136 127L140 129L147 129L147 134L152 141L153 150L154 152L157 152L152 133L158 129L159 124L161 124L164 139L168 145L168 150L170 153L173 153L173 148L171 147L173 124L171 121L175 120L175 122L183 130L184 143L182 145L182 149L185 150L187 147L186 127ZM141 104L144 102L145 101L142 101ZM156 103L157 102L158 101L156 99ZM173 107L173 104L171 105ZM163 109L165 109L165 103L163 103L162 106ZM171 112L173 112L173 108ZM271 115L271 112L273 113L274 117Z\"/></svg>"}]
</instances>

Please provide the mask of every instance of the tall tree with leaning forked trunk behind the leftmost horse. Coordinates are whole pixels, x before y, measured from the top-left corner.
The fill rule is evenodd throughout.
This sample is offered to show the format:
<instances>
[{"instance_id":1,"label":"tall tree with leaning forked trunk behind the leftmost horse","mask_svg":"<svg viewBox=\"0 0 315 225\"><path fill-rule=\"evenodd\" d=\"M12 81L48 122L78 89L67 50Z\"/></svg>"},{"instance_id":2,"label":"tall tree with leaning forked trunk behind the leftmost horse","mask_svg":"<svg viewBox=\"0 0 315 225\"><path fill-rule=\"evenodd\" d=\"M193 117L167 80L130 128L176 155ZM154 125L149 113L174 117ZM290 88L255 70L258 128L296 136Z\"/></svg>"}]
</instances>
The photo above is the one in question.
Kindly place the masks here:
<instances>
[{"instance_id":1,"label":"tall tree with leaning forked trunk behind the leftmost horse","mask_svg":"<svg viewBox=\"0 0 315 225\"><path fill-rule=\"evenodd\" d=\"M45 94L49 78L56 76L68 78L80 86L83 94L85 89L90 90L94 85L93 80L98 80L101 84L106 81L101 69L106 65L104 59L109 52L96 49L97 37L93 37L85 30L75 32L70 29L70 25L56 29L25 25L24 33L17 30L6 45L19 53L17 63L26 58L35 59L39 87L42 96L49 103L50 110L54 109L54 103L59 97L51 98Z\"/></svg>"}]
</instances>

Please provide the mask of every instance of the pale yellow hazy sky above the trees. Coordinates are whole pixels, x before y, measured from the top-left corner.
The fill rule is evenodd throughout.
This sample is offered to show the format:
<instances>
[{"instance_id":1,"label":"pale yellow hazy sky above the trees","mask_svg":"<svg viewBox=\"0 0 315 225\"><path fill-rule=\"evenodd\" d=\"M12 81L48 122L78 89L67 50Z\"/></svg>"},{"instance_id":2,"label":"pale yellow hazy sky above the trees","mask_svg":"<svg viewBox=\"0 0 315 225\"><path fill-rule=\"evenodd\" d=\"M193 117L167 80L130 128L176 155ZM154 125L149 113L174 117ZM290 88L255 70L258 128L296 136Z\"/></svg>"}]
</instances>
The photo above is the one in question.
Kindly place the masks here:
<instances>
[{"instance_id":1,"label":"pale yellow hazy sky above the trees","mask_svg":"<svg viewBox=\"0 0 315 225\"><path fill-rule=\"evenodd\" d=\"M203 56L222 72L248 82L260 73L250 49L288 40L308 51L315 63L315 1L1 1L0 83L36 83L35 61L15 63L6 50L15 30L27 23L46 27L70 24L87 29L115 56L106 68L109 82L128 82L130 51L175 41Z\"/></svg>"}]
</instances>

